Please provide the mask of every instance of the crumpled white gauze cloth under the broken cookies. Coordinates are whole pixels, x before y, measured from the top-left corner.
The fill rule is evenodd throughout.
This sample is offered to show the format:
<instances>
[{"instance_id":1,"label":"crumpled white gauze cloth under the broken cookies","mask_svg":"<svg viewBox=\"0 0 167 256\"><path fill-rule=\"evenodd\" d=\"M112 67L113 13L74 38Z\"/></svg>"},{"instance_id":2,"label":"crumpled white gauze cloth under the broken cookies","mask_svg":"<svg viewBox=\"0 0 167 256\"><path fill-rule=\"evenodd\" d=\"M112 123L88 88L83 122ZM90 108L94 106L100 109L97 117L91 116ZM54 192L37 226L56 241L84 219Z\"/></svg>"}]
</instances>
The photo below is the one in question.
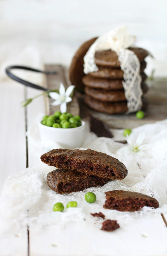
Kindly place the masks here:
<instances>
[{"instance_id":1,"label":"crumpled white gauze cloth under the broken cookies","mask_svg":"<svg viewBox=\"0 0 167 256\"><path fill-rule=\"evenodd\" d=\"M94 222L101 223L103 221L93 218L90 215L91 212L101 211L106 219L116 219L118 222L121 220L122 225L135 216L167 212L166 130L167 120L140 126L132 130L128 138L129 144L114 142L114 138L122 140L122 135L120 135L122 131L120 130L114 131L114 138L98 138L95 134L87 132L83 147L80 149L90 148L118 158L128 169L128 175L123 180L113 180L102 187L59 195L51 190L46 183L47 173L54 170L55 167L40 163L40 156L53 148L61 148L61 146L54 142L40 142L38 126L32 127L28 139L29 142L31 141L39 164L23 170L20 174L13 174L6 180L0 198L0 233L4 230L11 232L14 229L21 232L23 228L27 227L27 224L31 227L43 228L56 225L56 228L61 228L69 222L93 226ZM134 152L134 147L138 147L138 151ZM132 213L104 209L104 192L114 189L149 195L159 201L160 207L157 209L144 207L139 212ZM88 191L94 192L97 196L97 200L93 204L88 204L84 199L85 193ZM68 209L65 207L63 213L53 212L53 205L56 202L62 202L66 206L69 201L77 201L78 207ZM99 229L98 225L95 226L95 229Z\"/></svg>"}]
</instances>

